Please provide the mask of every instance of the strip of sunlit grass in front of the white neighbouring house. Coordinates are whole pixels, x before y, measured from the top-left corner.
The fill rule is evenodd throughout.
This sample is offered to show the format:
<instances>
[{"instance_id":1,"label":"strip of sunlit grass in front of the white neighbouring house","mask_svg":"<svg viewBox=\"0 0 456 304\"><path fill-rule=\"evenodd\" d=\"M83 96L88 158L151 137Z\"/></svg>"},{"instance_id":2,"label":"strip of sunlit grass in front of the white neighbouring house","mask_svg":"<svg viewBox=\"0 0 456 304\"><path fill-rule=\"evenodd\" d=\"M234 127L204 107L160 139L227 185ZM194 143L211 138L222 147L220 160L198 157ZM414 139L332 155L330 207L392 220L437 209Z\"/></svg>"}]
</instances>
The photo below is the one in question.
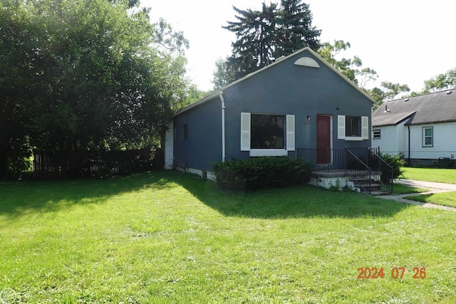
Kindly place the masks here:
<instances>
[{"instance_id":1,"label":"strip of sunlit grass in front of the white neighbouring house","mask_svg":"<svg viewBox=\"0 0 456 304\"><path fill-rule=\"evenodd\" d=\"M403 167L404 179L456 184L456 169Z\"/></svg>"}]
</instances>

